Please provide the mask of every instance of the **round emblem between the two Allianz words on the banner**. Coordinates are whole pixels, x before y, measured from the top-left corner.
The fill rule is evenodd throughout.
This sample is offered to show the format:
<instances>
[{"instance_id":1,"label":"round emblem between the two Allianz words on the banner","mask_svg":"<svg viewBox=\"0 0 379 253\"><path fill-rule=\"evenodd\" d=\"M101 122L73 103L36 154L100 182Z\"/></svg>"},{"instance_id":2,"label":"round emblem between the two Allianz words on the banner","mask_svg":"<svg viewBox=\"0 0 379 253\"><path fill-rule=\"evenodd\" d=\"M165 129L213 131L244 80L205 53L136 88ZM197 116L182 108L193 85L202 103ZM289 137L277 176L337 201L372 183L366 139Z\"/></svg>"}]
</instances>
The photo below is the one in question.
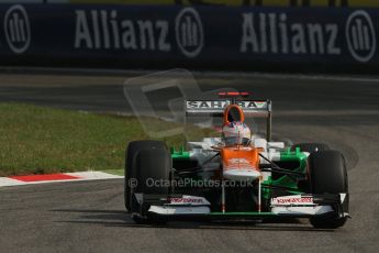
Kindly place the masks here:
<instances>
[{"instance_id":1,"label":"round emblem between the two Allianz words on the banner","mask_svg":"<svg viewBox=\"0 0 379 253\"><path fill-rule=\"evenodd\" d=\"M199 13L193 8L185 8L175 21L178 47L190 58L200 54L204 46L204 30Z\"/></svg>"}]
</instances>

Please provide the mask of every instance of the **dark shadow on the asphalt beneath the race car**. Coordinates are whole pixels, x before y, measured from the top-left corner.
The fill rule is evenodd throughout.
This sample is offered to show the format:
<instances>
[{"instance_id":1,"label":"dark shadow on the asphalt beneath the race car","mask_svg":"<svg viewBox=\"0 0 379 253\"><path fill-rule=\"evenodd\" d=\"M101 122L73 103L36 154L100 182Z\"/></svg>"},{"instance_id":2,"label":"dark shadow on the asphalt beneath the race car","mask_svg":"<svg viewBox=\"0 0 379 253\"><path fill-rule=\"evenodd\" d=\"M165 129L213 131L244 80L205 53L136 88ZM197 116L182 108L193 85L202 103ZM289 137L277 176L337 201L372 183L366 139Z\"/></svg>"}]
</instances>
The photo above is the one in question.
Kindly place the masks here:
<instances>
[{"instance_id":1,"label":"dark shadow on the asphalt beneath the race car","mask_svg":"<svg viewBox=\"0 0 379 253\"><path fill-rule=\"evenodd\" d=\"M132 217L122 210L88 210L88 209L54 209L53 212L65 212L59 217L69 219L57 220L59 223L93 224L104 227L120 227L133 229L178 229L178 230L263 230L263 231L322 231L333 230L313 229L308 222L300 219L270 219L267 221L257 220L207 220L186 219L172 220L166 224L137 224Z\"/></svg>"}]
</instances>

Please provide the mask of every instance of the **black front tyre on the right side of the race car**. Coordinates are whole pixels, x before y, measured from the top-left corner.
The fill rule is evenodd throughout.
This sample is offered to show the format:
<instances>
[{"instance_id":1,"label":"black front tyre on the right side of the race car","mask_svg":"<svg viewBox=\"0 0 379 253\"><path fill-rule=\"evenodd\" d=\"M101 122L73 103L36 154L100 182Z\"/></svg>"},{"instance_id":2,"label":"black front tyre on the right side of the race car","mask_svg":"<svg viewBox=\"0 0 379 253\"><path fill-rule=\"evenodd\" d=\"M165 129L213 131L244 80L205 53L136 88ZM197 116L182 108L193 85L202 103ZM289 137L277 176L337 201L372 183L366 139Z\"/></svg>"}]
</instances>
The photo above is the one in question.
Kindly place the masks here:
<instances>
[{"instance_id":1,"label":"black front tyre on the right side of the race car","mask_svg":"<svg viewBox=\"0 0 379 253\"><path fill-rule=\"evenodd\" d=\"M344 156L337 151L314 152L309 157L312 194L347 194L344 211L348 211L348 182ZM310 222L317 229L343 227L347 218L337 216L312 217Z\"/></svg>"}]
</instances>

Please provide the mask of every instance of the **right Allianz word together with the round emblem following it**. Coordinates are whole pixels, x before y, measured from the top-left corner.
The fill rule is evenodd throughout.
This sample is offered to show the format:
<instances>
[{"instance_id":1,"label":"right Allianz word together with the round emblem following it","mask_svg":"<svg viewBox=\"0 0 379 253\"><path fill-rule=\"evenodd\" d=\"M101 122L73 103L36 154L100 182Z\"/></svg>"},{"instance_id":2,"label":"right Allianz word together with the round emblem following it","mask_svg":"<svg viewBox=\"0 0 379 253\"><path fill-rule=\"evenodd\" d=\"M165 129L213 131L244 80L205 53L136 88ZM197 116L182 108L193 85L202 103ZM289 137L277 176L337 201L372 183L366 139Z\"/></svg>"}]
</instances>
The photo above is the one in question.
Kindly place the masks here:
<instances>
[{"instance_id":1,"label":"right Allianz word together with the round emblem following it","mask_svg":"<svg viewBox=\"0 0 379 253\"><path fill-rule=\"evenodd\" d=\"M341 55L345 41L337 23L290 22L287 13L244 13L242 53ZM370 15L353 12L346 22L345 38L354 59L368 62L376 53L376 31Z\"/></svg>"}]
</instances>

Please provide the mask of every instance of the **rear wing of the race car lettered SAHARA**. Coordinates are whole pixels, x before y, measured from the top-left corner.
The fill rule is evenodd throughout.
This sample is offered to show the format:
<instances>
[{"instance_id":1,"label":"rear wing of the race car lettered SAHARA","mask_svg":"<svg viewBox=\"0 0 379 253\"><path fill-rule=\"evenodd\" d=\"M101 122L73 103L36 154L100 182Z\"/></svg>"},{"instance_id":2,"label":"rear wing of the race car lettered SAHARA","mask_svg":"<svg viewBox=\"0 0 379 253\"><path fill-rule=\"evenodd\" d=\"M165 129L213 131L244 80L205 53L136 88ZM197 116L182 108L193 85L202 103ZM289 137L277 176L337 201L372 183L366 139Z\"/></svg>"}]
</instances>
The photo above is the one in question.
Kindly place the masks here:
<instances>
[{"instance_id":1,"label":"rear wing of the race car lettered SAHARA","mask_svg":"<svg viewBox=\"0 0 379 253\"><path fill-rule=\"evenodd\" d=\"M271 100L235 100L235 99L215 99L215 100L186 100L186 116L213 116L223 117L225 108L230 105L237 105L246 117L258 117L267 119L267 141L271 141Z\"/></svg>"}]
</instances>

